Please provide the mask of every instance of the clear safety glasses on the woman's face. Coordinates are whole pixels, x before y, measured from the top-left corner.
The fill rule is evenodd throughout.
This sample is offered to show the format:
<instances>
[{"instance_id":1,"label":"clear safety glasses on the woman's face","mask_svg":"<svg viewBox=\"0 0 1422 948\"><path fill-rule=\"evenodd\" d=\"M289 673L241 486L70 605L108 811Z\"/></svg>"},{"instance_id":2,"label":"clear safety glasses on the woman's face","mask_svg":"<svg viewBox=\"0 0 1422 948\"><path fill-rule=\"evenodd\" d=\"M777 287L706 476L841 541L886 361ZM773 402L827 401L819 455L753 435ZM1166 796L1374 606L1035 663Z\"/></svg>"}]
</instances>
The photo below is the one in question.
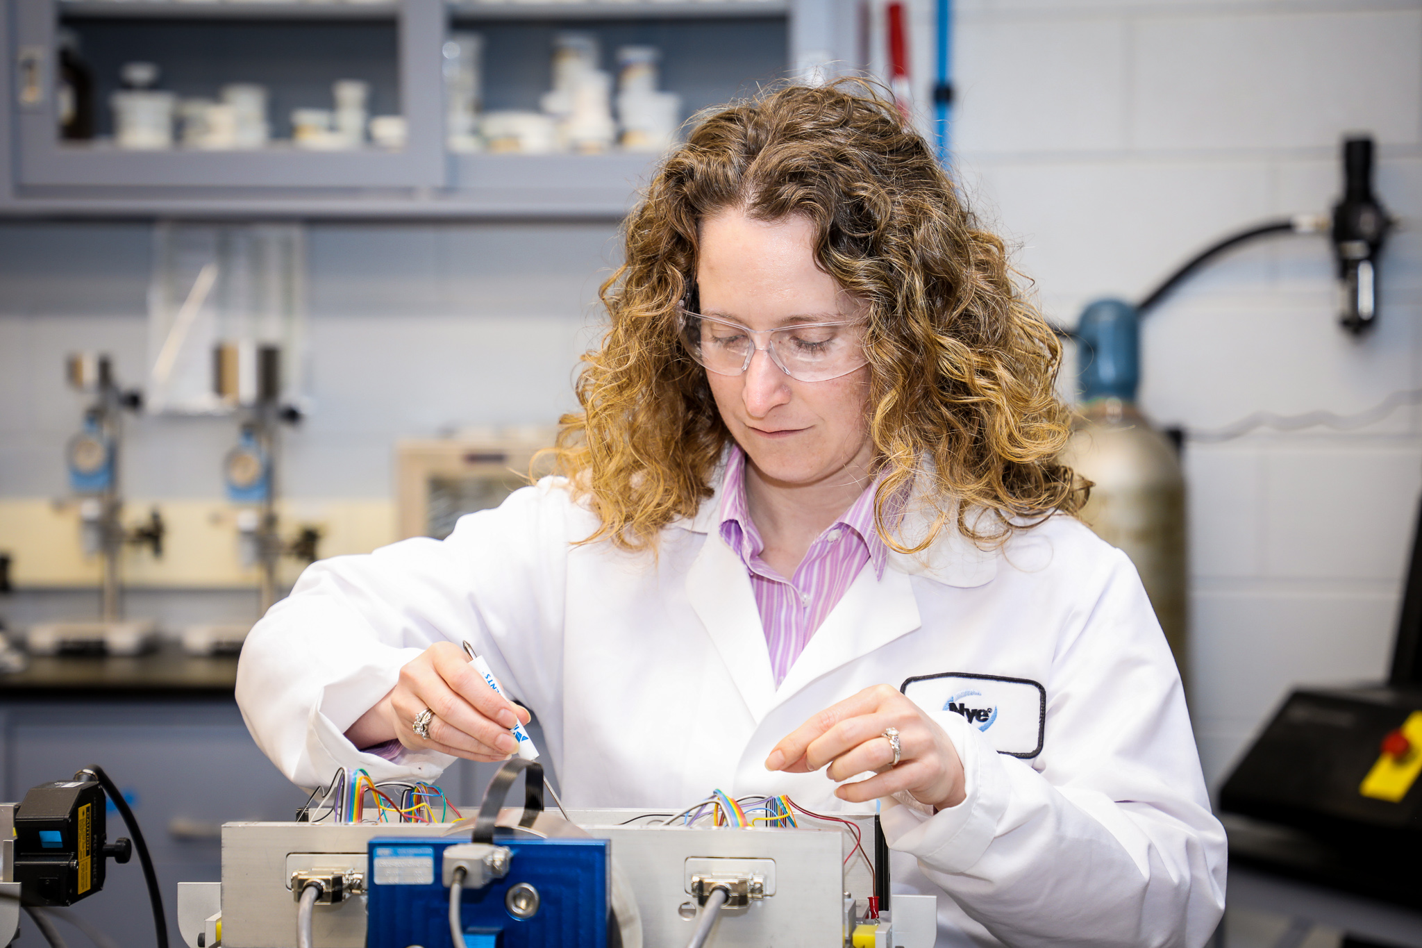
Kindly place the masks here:
<instances>
[{"instance_id":1,"label":"clear safety glasses on the woman's face","mask_svg":"<svg viewBox=\"0 0 1422 948\"><path fill-rule=\"evenodd\" d=\"M683 310L681 341L691 358L717 375L741 375L758 351L769 354L782 372L801 382L839 378L869 361L859 320L752 330Z\"/></svg>"}]
</instances>

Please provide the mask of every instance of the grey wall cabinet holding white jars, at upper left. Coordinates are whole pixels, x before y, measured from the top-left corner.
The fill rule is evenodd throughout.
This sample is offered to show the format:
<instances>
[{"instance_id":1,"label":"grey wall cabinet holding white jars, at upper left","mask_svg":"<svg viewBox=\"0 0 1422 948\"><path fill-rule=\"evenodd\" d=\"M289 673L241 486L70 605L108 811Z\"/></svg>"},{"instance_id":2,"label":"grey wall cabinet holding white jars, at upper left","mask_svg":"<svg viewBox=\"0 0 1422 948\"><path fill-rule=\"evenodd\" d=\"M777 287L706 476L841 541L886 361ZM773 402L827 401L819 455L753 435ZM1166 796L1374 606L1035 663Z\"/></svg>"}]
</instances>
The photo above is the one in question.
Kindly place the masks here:
<instances>
[{"instance_id":1,"label":"grey wall cabinet holding white jars, at upper left","mask_svg":"<svg viewBox=\"0 0 1422 948\"><path fill-rule=\"evenodd\" d=\"M483 37L486 108L538 108L553 36L592 33L613 50L663 51L663 88L683 112L789 75L806 63L853 68L853 0L7 0L0 20L0 213L11 216L552 216L620 217L654 155L455 153L445 146L442 50ZM58 134L58 38L94 75L95 138ZM119 67L158 63L179 97L228 82L269 90L273 144L252 151L112 144ZM330 105L331 82L368 84L371 114L405 119L402 148L307 151L293 108Z\"/></svg>"}]
</instances>

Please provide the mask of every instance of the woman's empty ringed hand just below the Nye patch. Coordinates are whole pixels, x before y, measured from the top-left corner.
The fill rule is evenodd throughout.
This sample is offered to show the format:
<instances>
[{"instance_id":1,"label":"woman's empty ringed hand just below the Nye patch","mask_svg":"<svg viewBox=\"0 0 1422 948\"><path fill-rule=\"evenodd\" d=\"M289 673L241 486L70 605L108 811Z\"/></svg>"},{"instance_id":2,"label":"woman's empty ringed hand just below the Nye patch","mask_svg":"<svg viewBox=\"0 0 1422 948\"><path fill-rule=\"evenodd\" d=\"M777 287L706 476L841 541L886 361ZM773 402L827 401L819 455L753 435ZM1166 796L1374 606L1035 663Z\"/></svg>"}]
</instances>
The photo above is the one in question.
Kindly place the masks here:
<instances>
[{"instance_id":1,"label":"woman's empty ringed hand just below the Nye patch","mask_svg":"<svg viewBox=\"0 0 1422 948\"><path fill-rule=\"evenodd\" d=\"M897 766L883 736L887 728L899 729ZM865 688L820 711L775 745L765 769L809 773L826 763L836 783L869 770L879 775L835 790L850 803L907 790L920 803L944 809L967 796L963 760L947 732L889 685Z\"/></svg>"}]
</instances>

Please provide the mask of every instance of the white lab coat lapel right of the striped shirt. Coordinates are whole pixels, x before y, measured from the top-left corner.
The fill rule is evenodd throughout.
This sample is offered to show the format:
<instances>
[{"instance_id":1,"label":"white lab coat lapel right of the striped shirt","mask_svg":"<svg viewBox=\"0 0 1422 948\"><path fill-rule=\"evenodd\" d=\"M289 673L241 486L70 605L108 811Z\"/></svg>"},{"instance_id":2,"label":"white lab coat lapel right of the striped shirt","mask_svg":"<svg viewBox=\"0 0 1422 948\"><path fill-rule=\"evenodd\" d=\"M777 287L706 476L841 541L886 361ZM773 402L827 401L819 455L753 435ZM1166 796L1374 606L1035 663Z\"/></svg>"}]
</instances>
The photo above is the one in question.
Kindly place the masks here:
<instances>
[{"instance_id":1,"label":"white lab coat lapel right of the striped shirt","mask_svg":"<svg viewBox=\"0 0 1422 948\"><path fill-rule=\"evenodd\" d=\"M880 577L873 564L866 563L791 665L775 694L776 704L919 625L919 603L909 574L886 569Z\"/></svg>"}]
</instances>

